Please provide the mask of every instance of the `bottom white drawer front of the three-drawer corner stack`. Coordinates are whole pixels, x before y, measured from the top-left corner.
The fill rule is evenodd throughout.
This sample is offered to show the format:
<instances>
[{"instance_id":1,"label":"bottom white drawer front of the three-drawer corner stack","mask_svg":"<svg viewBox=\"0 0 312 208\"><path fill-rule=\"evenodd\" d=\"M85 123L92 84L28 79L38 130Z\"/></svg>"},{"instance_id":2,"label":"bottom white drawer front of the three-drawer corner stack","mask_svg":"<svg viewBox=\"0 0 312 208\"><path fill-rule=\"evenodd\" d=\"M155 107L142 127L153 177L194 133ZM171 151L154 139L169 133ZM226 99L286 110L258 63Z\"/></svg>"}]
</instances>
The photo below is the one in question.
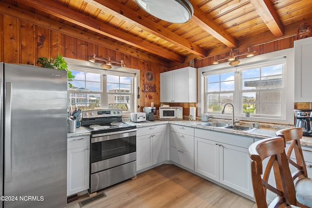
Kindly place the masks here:
<instances>
[{"instance_id":1,"label":"bottom white drawer front of the three-drawer corner stack","mask_svg":"<svg viewBox=\"0 0 312 208\"><path fill-rule=\"evenodd\" d=\"M194 170L194 154L170 147L170 160L188 169Z\"/></svg>"}]
</instances>

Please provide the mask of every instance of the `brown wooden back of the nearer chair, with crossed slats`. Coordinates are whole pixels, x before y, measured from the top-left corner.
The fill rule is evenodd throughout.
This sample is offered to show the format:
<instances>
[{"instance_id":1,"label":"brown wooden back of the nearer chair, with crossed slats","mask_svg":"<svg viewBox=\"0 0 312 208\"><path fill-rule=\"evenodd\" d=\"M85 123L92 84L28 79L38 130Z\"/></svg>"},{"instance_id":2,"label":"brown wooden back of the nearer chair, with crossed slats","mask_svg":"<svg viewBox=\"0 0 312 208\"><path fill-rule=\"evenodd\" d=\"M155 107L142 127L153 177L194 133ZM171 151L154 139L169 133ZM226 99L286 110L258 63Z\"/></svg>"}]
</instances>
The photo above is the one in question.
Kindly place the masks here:
<instances>
[{"instance_id":1,"label":"brown wooden back of the nearer chair, with crossed slats","mask_svg":"<svg viewBox=\"0 0 312 208\"><path fill-rule=\"evenodd\" d=\"M277 195L270 207L280 208L296 205L295 189L285 153L284 139L273 137L257 141L249 147L249 156L257 208L268 207L267 189ZM269 161L264 168L263 160L266 158L269 158ZM271 170L274 173L275 185L269 184Z\"/></svg>"}]
</instances>

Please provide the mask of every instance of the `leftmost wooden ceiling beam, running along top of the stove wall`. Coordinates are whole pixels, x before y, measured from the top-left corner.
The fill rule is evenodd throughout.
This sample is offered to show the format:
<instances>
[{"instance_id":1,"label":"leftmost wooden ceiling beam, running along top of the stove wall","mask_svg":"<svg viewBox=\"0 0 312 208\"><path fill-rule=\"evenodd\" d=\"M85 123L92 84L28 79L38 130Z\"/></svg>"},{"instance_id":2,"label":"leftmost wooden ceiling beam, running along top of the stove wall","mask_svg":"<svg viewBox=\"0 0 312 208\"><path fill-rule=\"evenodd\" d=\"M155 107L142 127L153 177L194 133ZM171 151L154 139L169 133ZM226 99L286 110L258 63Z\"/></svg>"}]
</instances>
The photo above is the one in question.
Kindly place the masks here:
<instances>
[{"instance_id":1,"label":"leftmost wooden ceiling beam, running along top of the stove wall","mask_svg":"<svg viewBox=\"0 0 312 208\"><path fill-rule=\"evenodd\" d=\"M146 53L139 52L137 50L131 49L129 47L120 45L116 42L112 42L103 38L99 38L96 35L81 31L77 28L73 28L71 26L59 23L58 21L45 18L43 16L28 12L24 9L21 9L19 7L13 6L11 4L7 4L4 2L0 2L0 13L8 16L15 17L17 19L21 19L24 21L28 21L32 24L36 24L40 27L47 28L59 33L62 33L64 35L68 35L74 38L79 38L81 40L97 44L99 46L109 48L115 51L118 51L120 53L137 57L143 60L148 60L150 62L166 66L168 67L169 64L167 61L164 61L164 59L154 57L151 55L148 55ZM87 59L87 57L85 57Z\"/></svg>"}]
</instances>

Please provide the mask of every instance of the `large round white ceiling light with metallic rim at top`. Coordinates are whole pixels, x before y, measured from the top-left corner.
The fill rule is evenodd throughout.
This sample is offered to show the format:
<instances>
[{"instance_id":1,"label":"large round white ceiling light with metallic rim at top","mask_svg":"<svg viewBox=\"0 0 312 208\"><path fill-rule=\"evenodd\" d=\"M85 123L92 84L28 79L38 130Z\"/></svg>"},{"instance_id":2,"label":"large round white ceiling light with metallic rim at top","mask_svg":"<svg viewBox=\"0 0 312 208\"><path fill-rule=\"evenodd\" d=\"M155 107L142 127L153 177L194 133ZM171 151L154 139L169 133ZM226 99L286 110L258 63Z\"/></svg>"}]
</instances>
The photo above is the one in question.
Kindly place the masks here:
<instances>
[{"instance_id":1,"label":"large round white ceiling light with metallic rim at top","mask_svg":"<svg viewBox=\"0 0 312 208\"><path fill-rule=\"evenodd\" d=\"M189 0L136 0L136 2L145 12L172 23L185 23L194 14Z\"/></svg>"}]
</instances>

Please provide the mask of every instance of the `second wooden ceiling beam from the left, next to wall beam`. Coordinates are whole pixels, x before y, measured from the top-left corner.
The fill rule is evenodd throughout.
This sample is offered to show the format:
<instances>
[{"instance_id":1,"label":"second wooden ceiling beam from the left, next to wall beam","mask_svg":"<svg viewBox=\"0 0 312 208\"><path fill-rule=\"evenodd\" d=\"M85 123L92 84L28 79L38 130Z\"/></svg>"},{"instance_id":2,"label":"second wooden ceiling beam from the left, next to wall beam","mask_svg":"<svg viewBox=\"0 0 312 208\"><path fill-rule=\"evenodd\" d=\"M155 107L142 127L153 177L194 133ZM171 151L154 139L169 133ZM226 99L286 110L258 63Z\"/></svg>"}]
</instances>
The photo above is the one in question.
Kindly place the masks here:
<instances>
[{"instance_id":1,"label":"second wooden ceiling beam from the left, next to wall beam","mask_svg":"<svg viewBox=\"0 0 312 208\"><path fill-rule=\"evenodd\" d=\"M20 3L24 3L28 6L34 7L35 9L41 10L48 14L54 15L58 18L67 20L75 23L79 26L95 31L104 36L117 39L121 42L130 44L149 53L155 54L160 57L174 60L179 63L184 63L185 58L181 57L173 52L170 52L160 46L156 46L150 42L132 36L131 34L124 33L115 27L107 25L97 19L93 19L87 15L79 13L73 9L63 6L55 1L51 0L19 0Z\"/></svg>"}]
</instances>

